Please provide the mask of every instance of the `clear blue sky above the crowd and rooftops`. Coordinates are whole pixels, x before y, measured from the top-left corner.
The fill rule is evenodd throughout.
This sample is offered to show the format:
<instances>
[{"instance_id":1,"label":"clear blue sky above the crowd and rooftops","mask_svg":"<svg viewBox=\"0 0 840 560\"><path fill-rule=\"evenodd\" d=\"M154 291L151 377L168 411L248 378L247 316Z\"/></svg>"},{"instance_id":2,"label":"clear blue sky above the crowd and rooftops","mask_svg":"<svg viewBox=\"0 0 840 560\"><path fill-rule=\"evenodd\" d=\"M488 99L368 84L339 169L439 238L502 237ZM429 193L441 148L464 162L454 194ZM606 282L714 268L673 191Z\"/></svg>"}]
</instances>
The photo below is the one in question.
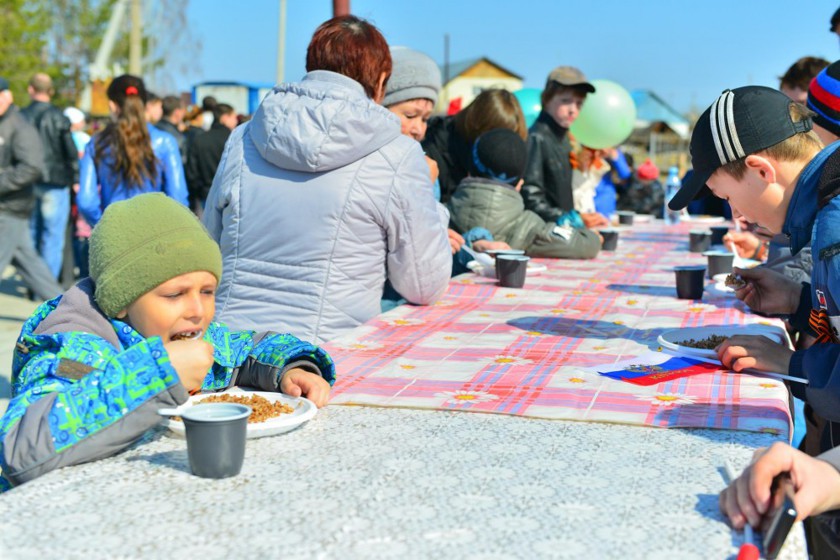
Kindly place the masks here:
<instances>
[{"instance_id":1,"label":"clear blue sky above the crowd and rooftops","mask_svg":"<svg viewBox=\"0 0 840 560\"><path fill-rule=\"evenodd\" d=\"M652 89L677 110L703 109L721 90L778 86L801 56L840 59L829 33L830 0L351 0L391 45L443 62L487 56L542 87L555 66L581 68L628 90ZM274 82L278 0L192 0L191 32L202 42L200 71L181 78ZM331 0L288 0L286 81L305 73L306 46L332 16Z\"/></svg>"}]
</instances>

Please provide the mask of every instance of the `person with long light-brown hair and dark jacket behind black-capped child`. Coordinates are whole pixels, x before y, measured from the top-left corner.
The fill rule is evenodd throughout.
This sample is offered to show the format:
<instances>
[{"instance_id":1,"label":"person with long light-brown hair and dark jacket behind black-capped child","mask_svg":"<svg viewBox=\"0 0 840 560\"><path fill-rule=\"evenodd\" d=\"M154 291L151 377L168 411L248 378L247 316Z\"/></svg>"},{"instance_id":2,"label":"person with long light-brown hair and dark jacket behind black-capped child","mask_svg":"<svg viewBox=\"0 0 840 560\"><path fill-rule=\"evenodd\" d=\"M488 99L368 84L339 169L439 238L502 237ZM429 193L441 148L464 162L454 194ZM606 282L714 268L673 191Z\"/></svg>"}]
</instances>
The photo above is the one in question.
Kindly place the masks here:
<instances>
[{"instance_id":1,"label":"person with long light-brown hair and dark jacket behind black-capped child","mask_svg":"<svg viewBox=\"0 0 840 560\"><path fill-rule=\"evenodd\" d=\"M503 89L482 91L456 115L429 119L422 145L426 155L438 164L443 204L449 202L458 183L469 175L475 139L494 128L512 130L523 140L528 135L519 101Z\"/></svg>"}]
</instances>

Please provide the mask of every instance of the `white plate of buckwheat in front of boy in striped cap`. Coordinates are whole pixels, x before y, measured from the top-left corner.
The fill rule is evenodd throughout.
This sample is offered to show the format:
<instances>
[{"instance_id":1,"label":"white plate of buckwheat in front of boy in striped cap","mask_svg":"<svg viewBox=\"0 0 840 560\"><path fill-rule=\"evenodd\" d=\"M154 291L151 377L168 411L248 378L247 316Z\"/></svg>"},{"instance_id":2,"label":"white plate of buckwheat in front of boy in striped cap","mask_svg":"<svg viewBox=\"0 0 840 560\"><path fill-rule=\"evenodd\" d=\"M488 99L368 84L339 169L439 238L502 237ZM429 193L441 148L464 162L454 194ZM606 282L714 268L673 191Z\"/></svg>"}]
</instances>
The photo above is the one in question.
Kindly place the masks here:
<instances>
[{"instance_id":1,"label":"white plate of buckwheat in front of boy in striped cap","mask_svg":"<svg viewBox=\"0 0 840 560\"><path fill-rule=\"evenodd\" d=\"M659 335L657 342L664 349L687 356L717 360L717 348L726 339L735 335L762 335L778 343L784 343L787 335L781 327L773 325L710 325L671 329Z\"/></svg>"}]
</instances>

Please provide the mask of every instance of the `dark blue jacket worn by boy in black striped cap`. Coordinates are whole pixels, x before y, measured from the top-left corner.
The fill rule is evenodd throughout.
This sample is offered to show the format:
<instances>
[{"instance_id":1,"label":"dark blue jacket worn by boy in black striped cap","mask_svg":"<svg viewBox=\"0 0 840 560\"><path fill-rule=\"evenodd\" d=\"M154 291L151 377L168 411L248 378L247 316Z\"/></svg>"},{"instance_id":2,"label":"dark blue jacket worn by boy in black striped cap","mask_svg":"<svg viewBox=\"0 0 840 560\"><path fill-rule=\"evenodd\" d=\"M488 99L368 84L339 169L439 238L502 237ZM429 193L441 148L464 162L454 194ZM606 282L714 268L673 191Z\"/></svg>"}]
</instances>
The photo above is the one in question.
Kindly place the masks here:
<instances>
[{"instance_id":1,"label":"dark blue jacket worn by boy in black striped cap","mask_svg":"<svg viewBox=\"0 0 840 560\"><path fill-rule=\"evenodd\" d=\"M806 350L797 350L790 360L789 372L808 379L808 385L791 384L795 396L805 400L816 414L829 422L840 422L840 197L831 198L820 208L818 191L829 177L822 177L826 163L840 147L836 142L823 149L803 169L796 190L790 201L783 232L790 238L791 251L798 253L809 242L812 244L813 270L810 290L803 290L801 307L824 310L832 326L832 342L815 344ZM840 152L837 152L840 158ZM807 289L807 284L805 285ZM807 297L810 292L810 300ZM801 322L800 322L801 325ZM826 432L830 437L831 426ZM840 430L838 430L840 435ZM833 444L840 445L840 438Z\"/></svg>"}]
</instances>

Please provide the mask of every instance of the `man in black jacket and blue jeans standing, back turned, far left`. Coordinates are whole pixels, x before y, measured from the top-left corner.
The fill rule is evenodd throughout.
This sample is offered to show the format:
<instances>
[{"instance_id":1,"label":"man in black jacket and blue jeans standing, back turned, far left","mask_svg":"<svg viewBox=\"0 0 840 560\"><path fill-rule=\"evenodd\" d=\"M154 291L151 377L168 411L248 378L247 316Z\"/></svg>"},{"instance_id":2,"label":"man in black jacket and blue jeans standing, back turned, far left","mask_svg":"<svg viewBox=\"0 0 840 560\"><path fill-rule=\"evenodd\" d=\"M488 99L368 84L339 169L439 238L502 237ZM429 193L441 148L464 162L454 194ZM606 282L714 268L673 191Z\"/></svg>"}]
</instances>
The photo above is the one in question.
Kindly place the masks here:
<instances>
[{"instance_id":1,"label":"man in black jacket and blue jeans standing, back turned, far left","mask_svg":"<svg viewBox=\"0 0 840 560\"><path fill-rule=\"evenodd\" d=\"M79 183L79 157L70 120L50 103L52 79L46 74L35 74L27 91L32 103L21 115L38 130L44 148L43 177L35 185L32 241L52 275L58 278L70 220L70 187Z\"/></svg>"}]
</instances>

